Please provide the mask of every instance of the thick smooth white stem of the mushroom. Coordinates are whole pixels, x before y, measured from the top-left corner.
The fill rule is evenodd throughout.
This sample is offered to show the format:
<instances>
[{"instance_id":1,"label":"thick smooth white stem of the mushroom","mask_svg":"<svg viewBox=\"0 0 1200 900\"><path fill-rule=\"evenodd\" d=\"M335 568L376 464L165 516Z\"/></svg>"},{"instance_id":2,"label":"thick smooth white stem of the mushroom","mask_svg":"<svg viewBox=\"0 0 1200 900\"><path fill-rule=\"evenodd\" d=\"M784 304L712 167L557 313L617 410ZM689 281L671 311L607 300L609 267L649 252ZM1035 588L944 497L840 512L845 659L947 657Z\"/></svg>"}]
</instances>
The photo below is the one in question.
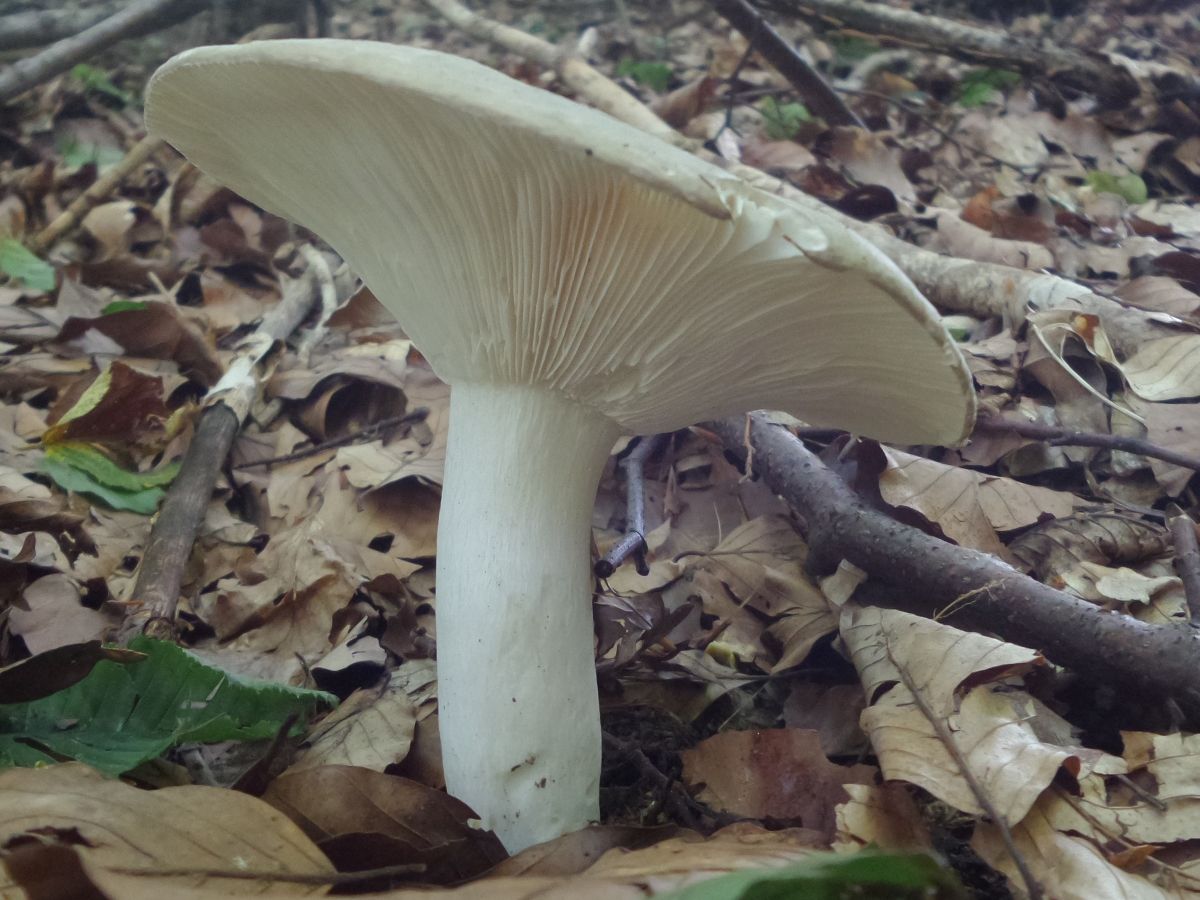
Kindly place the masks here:
<instances>
[{"instance_id":1,"label":"thick smooth white stem of the mushroom","mask_svg":"<svg viewBox=\"0 0 1200 900\"><path fill-rule=\"evenodd\" d=\"M455 384L438 524L446 787L510 852L599 817L590 526L612 420L536 386Z\"/></svg>"}]
</instances>

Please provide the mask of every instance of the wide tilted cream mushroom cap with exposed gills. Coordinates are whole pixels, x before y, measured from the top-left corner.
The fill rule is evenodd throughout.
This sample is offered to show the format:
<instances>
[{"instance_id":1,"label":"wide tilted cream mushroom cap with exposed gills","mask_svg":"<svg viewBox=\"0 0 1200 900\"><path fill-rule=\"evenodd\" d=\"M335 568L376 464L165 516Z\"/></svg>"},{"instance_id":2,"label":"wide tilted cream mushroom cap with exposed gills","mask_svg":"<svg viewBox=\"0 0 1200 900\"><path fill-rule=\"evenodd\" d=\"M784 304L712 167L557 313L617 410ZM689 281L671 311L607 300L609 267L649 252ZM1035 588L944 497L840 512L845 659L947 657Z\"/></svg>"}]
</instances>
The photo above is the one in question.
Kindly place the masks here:
<instances>
[{"instance_id":1,"label":"wide tilted cream mushroom cap with exposed gills","mask_svg":"<svg viewBox=\"0 0 1200 900\"><path fill-rule=\"evenodd\" d=\"M550 91L361 41L202 47L150 130L320 235L446 382L541 385L653 433L769 407L960 442L937 313L832 216Z\"/></svg>"}]
</instances>

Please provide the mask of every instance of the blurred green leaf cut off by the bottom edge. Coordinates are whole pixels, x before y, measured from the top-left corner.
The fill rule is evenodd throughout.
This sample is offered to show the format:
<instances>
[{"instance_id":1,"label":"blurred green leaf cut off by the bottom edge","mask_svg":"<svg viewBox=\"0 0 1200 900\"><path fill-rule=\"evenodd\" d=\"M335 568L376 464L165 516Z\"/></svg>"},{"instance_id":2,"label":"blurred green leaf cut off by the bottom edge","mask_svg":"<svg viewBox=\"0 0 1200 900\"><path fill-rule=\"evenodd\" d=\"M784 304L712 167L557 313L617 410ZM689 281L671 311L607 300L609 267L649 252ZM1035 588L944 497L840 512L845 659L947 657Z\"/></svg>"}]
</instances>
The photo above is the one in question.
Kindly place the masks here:
<instances>
[{"instance_id":1,"label":"blurred green leaf cut off by the bottom edge","mask_svg":"<svg viewBox=\"0 0 1200 900\"><path fill-rule=\"evenodd\" d=\"M731 872L664 895L664 900L952 900L958 878L928 856L816 853L782 869Z\"/></svg>"}]
</instances>

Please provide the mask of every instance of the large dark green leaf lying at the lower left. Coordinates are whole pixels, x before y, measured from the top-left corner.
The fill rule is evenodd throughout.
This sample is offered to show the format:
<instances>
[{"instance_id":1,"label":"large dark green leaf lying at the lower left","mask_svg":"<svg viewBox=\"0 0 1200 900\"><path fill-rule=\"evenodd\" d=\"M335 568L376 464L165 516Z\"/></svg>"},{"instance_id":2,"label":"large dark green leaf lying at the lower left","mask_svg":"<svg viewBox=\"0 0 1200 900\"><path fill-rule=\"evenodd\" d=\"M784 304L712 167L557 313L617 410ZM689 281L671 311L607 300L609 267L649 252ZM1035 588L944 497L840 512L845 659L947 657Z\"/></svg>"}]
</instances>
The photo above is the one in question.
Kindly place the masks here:
<instances>
[{"instance_id":1,"label":"large dark green leaf lying at the lower left","mask_svg":"<svg viewBox=\"0 0 1200 900\"><path fill-rule=\"evenodd\" d=\"M337 703L324 691L229 674L168 641L137 637L142 662L97 662L66 690L29 703L0 706L0 767L61 757L120 775L173 746L274 737L288 716L304 730Z\"/></svg>"}]
</instances>

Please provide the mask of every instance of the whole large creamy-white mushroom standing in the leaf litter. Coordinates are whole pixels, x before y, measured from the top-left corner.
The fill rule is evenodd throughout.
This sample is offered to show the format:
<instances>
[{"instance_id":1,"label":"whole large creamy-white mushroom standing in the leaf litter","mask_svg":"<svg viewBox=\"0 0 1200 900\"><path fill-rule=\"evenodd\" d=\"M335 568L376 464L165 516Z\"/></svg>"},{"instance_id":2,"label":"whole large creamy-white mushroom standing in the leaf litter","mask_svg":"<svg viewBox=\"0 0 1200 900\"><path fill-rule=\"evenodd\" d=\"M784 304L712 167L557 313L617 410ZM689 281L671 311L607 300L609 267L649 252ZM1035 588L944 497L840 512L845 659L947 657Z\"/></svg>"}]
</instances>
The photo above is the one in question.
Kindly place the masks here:
<instances>
[{"instance_id":1,"label":"whole large creamy-white mushroom standing in the leaf litter","mask_svg":"<svg viewBox=\"0 0 1200 900\"><path fill-rule=\"evenodd\" d=\"M457 56L203 47L146 122L329 241L452 389L437 557L446 785L510 851L599 814L589 557L623 432L773 407L960 442L934 308L818 203Z\"/></svg>"}]
</instances>

